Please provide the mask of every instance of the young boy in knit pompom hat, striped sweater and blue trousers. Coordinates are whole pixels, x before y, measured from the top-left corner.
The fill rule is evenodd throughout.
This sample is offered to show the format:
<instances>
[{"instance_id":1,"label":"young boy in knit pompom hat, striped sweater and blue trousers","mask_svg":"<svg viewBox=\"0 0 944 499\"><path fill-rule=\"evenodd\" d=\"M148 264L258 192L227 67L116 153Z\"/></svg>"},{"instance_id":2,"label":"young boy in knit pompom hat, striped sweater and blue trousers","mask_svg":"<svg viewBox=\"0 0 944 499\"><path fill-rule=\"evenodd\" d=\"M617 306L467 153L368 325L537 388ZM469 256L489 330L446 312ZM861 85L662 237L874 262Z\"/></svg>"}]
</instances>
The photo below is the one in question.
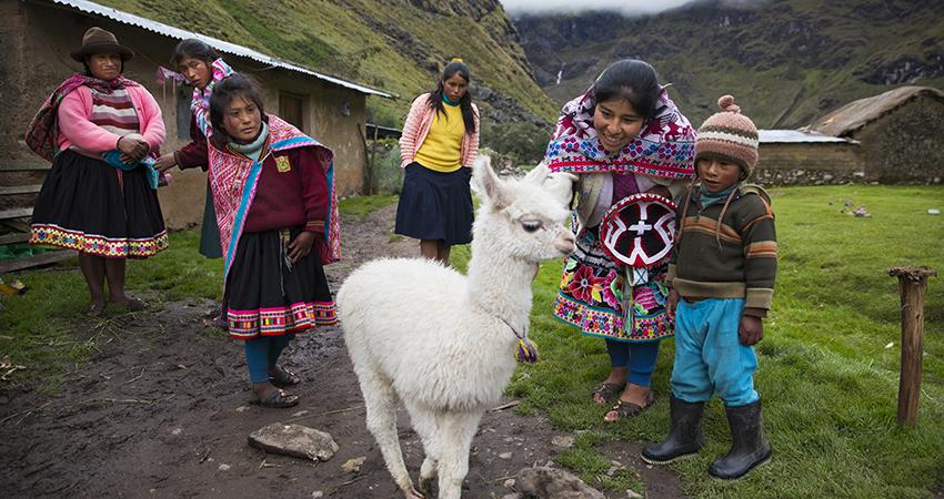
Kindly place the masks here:
<instances>
[{"instance_id":1,"label":"young boy in knit pompom hat, striped sweater and blue trousers","mask_svg":"<svg viewBox=\"0 0 944 499\"><path fill-rule=\"evenodd\" d=\"M776 234L767 194L742 183L757 163L757 129L731 95L717 103L722 112L704 122L695 142L700 184L676 200L666 276L667 310L675 318L672 428L642 458L661 465L697 452L702 413L715 394L724 400L732 446L709 475L736 479L771 457L752 345L764 337L762 319L773 298Z\"/></svg>"}]
</instances>

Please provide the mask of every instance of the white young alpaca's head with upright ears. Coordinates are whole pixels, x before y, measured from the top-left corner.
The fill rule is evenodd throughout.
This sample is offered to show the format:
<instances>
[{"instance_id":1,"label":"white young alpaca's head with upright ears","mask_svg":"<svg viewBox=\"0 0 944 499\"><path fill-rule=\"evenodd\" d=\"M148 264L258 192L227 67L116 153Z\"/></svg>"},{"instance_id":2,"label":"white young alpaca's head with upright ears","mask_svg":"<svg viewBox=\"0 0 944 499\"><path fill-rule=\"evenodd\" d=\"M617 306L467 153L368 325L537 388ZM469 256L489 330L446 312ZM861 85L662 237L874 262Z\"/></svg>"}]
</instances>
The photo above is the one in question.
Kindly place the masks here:
<instances>
[{"instance_id":1,"label":"white young alpaca's head with upright ears","mask_svg":"<svg viewBox=\"0 0 944 499\"><path fill-rule=\"evenodd\" d=\"M503 180L495 175L488 156L479 156L473 170L482 201L473 228L473 241L480 242L476 251L501 252L528 262L573 251L573 233L564 221L576 177L550 173L541 164L523 179Z\"/></svg>"}]
</instances>

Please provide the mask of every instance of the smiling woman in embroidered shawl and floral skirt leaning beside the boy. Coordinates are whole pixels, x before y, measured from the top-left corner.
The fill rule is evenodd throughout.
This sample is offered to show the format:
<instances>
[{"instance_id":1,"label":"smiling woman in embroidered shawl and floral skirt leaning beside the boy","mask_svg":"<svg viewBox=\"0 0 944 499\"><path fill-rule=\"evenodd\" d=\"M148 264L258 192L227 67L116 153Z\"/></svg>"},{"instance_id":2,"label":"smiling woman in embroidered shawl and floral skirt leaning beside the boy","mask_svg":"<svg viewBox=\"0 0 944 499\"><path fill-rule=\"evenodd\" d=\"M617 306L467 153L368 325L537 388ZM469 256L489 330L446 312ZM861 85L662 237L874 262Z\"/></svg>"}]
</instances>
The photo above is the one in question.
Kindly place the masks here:
<instances>
[{"instance_id":1,"label":"smiling woman in embroidered shawl and floral skirt leaning beside the boy","mask_svg":"<svg viewBox=\"0 0 944 499\"><path fill-rule=\"evenodd\" d=\"M580 174L576 248L564 266L554 315L581 333L605 338L612 369L593 390L606 421L652 404L659 342L672 336L665 315L666 262L647 273L626 271L600 240L603 215L639 193L672 198L693 176L694 130L675 108L655 70L643 61L613 63L585 94L561 112L545 161L552 171Z\"/></svg>"}]
</instances>

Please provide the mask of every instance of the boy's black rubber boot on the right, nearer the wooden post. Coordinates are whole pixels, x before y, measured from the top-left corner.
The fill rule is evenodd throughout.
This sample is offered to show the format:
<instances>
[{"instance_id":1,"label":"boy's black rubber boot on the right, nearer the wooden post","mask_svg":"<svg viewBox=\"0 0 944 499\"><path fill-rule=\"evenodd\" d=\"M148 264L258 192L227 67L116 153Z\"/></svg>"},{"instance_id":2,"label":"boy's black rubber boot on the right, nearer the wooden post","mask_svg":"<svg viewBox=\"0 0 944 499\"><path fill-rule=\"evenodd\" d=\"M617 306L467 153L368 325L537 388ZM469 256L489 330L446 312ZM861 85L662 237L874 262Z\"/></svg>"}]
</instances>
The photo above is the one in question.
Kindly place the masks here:
<instances>
[{"instance_id":1,"label":"boy's black rubber boot on the right, nearer the wooden post","mask_svg":"<svg viewBox=\"0 0 944 499\"><path fill-rule=\"evenodd\" d=\"M741 407L724 407L731 427L731 450L709 467L709 475L722 480L743 477L771 458L771 445L764 438L761 400Z\"/></svg>"}]
</instances>

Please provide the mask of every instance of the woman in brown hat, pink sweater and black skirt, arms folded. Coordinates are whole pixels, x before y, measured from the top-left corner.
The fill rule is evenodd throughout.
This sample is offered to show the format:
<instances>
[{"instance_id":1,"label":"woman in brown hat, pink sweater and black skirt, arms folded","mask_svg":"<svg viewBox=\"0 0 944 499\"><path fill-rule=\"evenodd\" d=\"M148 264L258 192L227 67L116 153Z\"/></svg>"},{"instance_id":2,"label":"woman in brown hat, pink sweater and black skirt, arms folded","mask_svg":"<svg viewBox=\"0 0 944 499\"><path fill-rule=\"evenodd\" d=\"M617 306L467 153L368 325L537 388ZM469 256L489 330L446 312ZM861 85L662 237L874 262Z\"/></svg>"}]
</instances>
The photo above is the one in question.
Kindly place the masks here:
<instances>
[{"instance_id":1,"label":"woman in brown hat, pink sweater and black skirt, arms folded","mask_svg":"<svg viewBox=\"0 0 944 499\"><path fill-rule=\"evenodd\" d=\"M143 309L144 302L124 293L125 258L147 258L168 246L153 167L164 123L154 98L121 75L133 55L114 34L90 28L71 54L86 73L59 85L26 136L52 161L33 208L30 244L79 251L92 316L101 316L109 302Z\"/></svg>"}]
</instances>

